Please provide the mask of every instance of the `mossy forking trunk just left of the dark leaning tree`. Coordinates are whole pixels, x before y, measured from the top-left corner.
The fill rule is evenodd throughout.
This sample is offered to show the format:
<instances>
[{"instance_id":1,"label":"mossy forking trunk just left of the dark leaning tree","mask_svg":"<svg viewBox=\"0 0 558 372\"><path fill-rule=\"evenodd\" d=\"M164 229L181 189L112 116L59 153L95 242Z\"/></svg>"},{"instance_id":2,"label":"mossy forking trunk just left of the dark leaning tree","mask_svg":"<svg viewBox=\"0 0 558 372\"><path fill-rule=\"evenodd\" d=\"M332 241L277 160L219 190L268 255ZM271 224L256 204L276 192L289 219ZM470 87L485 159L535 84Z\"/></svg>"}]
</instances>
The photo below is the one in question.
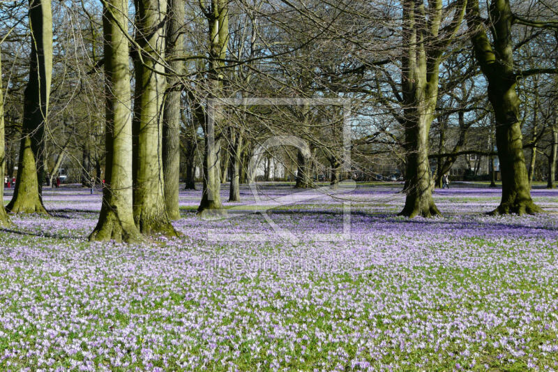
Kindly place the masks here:
<instances>
[{"instance_id":1,"label":"mossy forking trunk just left of the dark leaning tree","mask_svg":"<svg viewBox=\"0 0 558 372\"><path fill-rule=\"evenodd\" d=\"M444 18L442 1L429 1L428 5L429 8L425 9L422 1L402 1L404 50L401 80L405 104L407 198L400 215L407 217L439 215L432 199L434 182L430 176L428 134L435 117L439 64L460 27L467 1L455 4L453 20L445 26L448 34L443 38L439 35Z\"/></svg>"}]
</instances>

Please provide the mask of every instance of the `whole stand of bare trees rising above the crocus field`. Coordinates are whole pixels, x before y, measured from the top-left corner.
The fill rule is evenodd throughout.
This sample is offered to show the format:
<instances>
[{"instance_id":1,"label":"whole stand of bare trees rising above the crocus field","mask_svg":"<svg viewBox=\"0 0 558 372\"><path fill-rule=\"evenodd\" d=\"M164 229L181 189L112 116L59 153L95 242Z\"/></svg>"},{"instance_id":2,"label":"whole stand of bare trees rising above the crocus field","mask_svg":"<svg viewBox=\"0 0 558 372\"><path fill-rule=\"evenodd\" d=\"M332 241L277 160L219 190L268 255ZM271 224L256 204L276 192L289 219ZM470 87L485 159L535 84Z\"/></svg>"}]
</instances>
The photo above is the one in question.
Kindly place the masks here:
<instances>
[{"instance_id":1,"label":"whole stand of bare trees rising above the crocus field","mask_svg":"<svg viewBox=\"0 0 558 372\"><path fill-rule=\"evenodd\" d=\"M306 143L263 156L296 165L297 188L319 169L335 186L395 161L402 216L439 214L432 190L459 156L498 158L492 214L540 212L530 189L543 163L555 187L558 13L545 1L29 0L1 3L0 18L0 167L17 165L4 225L6 211L48 213L43 184L66 161L84 186L103 184L90 239L174 236L180 179L195 188L200 168L198 213L221 216L221 184L238 201L274 135ZM251 97L309 100L219 104Z\"/></svg>"}]
</instances>

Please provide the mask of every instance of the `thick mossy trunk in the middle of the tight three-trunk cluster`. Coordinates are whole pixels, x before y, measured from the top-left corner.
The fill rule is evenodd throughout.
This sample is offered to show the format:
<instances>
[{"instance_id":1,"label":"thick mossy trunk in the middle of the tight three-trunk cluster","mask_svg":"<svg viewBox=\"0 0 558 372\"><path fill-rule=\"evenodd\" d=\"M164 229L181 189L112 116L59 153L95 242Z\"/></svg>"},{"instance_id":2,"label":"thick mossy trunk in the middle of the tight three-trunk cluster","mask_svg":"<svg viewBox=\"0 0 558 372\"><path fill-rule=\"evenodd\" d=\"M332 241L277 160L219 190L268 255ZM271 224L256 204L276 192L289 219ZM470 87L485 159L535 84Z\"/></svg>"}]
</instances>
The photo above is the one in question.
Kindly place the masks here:
<instances>
[{"instance_id":1,"label":"thick mossy trunk in the middle of the tight three-trunk cluster","mask_svg":"<svg viewBox=\"0 0 558 372\"><path fill-rule=\"evenodd\" d=\"M136 9L137 42L142 50L136 63L139 96L133 135L137 141L134 161L134 221L143 234L176 236L165 208L163 179L163 97L165 81L166 0L140 0Z\"/></svg>"}]
</instances>

